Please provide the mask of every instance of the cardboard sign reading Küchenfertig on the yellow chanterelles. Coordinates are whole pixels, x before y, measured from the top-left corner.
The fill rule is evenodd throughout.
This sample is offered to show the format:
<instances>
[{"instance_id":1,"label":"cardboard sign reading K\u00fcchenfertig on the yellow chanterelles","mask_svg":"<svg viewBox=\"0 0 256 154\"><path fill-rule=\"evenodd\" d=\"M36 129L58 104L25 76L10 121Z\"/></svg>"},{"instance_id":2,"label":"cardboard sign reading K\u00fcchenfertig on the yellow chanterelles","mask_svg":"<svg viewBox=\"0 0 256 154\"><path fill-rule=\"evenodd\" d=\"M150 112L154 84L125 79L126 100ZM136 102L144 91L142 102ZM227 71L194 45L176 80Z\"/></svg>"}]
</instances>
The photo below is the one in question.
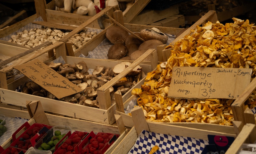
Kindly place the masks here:
<instances>
[{"instance_id":1,"label":"cardboard sign reading K\u00fcchenfertig on the yellow chanterelles","mask_svg":"<svg viewBox=\"0 0 256 154\"><path fill-rule=\"evenodd\" d=\"M168 97L236 99L251 75L249 68L174 67Z\"/></svg>"}]
</instances>

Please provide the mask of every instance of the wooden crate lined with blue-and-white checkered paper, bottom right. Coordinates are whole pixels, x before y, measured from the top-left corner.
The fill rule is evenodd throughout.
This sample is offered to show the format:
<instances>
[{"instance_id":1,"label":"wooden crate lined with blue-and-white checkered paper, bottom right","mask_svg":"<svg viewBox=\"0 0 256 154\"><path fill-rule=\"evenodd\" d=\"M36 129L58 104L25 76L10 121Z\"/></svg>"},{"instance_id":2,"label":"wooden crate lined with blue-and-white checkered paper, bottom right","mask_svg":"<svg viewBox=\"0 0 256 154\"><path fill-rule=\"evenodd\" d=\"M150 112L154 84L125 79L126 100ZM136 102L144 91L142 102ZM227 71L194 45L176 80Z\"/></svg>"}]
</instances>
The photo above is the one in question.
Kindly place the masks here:
<instances>
[{"instance_id":1,"label":"wooden crate lined with blue-and-white checkered paper, bottom right","mask_svg":"<svg viewBox=\"0 0 256 154\"><path fill-rule=\"evenodd\" d=\"M167 134L167 135L177 135L177 136L183 136L183 137L191 137L191 138L197 138L202 140L208 140L207 135L220 135L220 136L230 136L230 137L237 137L233 144L235 145L241 145L243 141L248 137L248 135L251 133L250 139L251 143L256 140L255 137L255 125L252 124L246 124L244 128L241 130L239 135L235 133L234 129L216 129L215 125L208 126L207 128L203 127L190 127L188 124L187 126L179 126L179 125L168 125L166 123L156 123L156 122L149 122L146 121L144 117L144 113L142 111L142 108L134 108L132 110L132 120L134 121L134 126L131 128L131 130L127 133L125 138L113 149L112 153L128 153L129 150L133 147L135 144L139 134L142 132L142 130L147 130L154 133L160 133L160 134ZM121 116L116 116L118 118L121 118ZM125 119L120 120L122 122L125 121ZM190 123L192 124L192 123ZM242 140L241 140L242 139ZM240 142L241 141L241 142ZM235 147L235 145L231 147ZM229 148L229 150L232 150L232 152L228 152L229 154L235 153L235 149L239 149L239 147L236 147L235 149Z\"/></svg>"}]
</instances>

